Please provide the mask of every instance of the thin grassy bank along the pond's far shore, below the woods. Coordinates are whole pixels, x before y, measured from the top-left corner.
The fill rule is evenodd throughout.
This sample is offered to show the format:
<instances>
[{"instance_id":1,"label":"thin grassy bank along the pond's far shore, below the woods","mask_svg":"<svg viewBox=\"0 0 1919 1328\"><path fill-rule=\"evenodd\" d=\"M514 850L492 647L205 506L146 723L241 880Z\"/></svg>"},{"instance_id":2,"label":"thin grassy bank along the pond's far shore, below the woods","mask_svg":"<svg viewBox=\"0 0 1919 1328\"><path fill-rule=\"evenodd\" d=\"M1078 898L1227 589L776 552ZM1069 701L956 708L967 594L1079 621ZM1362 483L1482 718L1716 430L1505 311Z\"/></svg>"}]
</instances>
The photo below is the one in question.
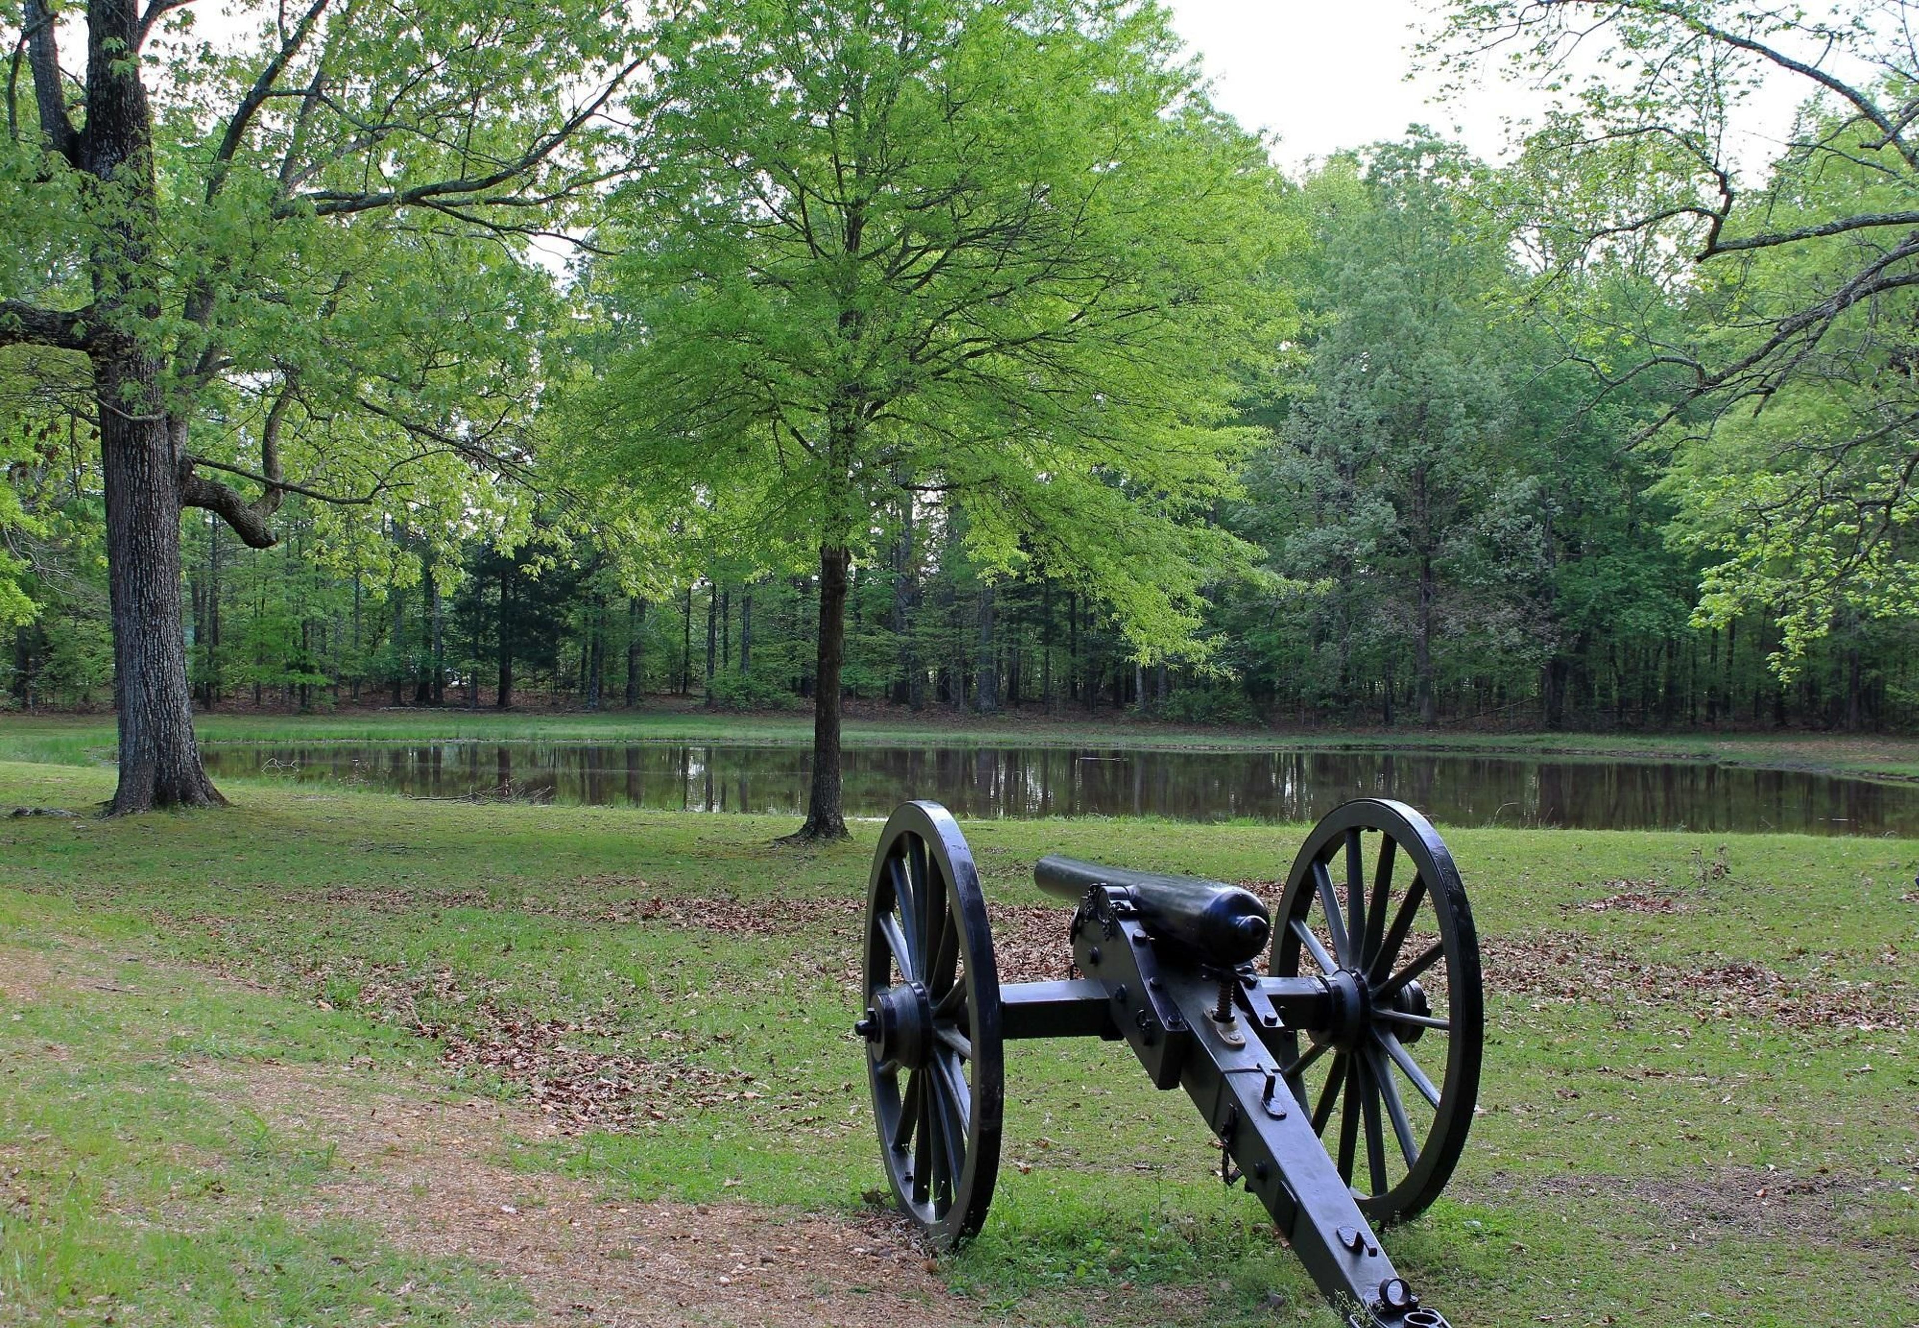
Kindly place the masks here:
<instances>
[{"instance_id":1,"label":"thin grassy bank along the pond's far shore, below the woods","mask_svg":"<svg viewBox=\"0 0 1919 1328\"><path fill-rule=\"evenodd\" d=\"M595 743L812 743L808 714L714 714L662 702L647 710L510 712L355 710L344 714L203 714L205 743L409 743L409 741L595 741ZM1176 727L1148 720L1055 720L1038 714L956 718L887 712L850 718L848 747L888 743L1027 747L1126 747L1180 750L1324 748L1432 750L1514 756L1685 760L1767 770L1806 770L1867 779L1919 781L1919 739L1831 733L1466 733L1466 731L1286 731ZM0 760L106 762L111 716L0 714Z\"/></svg>"}]
</instances>

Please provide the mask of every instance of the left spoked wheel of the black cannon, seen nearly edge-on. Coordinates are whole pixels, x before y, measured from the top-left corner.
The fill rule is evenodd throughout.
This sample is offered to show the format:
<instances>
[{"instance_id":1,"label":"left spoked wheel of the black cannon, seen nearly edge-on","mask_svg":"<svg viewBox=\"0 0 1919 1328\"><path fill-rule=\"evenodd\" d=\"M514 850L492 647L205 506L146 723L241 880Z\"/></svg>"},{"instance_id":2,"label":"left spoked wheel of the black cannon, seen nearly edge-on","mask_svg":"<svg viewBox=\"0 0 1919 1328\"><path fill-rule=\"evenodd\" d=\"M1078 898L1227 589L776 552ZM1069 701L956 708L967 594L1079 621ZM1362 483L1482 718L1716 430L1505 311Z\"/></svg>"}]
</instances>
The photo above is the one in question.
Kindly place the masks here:
<instances>
[{"instance_id":1,"label":"left spoked wheel of the black cannon, seen nearly edge-on","mask_svg":"<svg viewBox=\"0 0 1919 1328\"><path fill-rule=\"evenodd\" d=\"M894 1201L950 1249L986 1221L1000 1173L1000 969L973 852L938 802L879 835L865 908L865 1017L879 1153Z\"/></svg>"}]
</instances>

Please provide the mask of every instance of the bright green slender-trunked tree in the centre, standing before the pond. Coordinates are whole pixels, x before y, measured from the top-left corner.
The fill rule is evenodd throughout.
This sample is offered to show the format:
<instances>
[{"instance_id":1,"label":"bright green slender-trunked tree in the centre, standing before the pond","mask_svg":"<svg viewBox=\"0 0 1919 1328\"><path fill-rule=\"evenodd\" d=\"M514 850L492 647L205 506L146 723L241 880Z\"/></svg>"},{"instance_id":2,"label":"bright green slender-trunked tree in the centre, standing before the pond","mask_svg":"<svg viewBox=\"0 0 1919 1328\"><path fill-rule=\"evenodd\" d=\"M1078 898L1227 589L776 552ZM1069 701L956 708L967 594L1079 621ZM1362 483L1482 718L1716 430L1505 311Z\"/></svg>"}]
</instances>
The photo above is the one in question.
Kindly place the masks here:
<instances>
[{"instance_id":1,"label":"bright green slender-trunked tree in the centre, standing before the pond","mask_svg":"<svg viewBox=\"0 0 1919 1328\"><path fill-rule=\"evenodd\" d=\"M1151 4L716 0L656 46L580 464L817 558L800 835L842 837L848 570L902 503L963 505L983 564L1142 656L1192 639L1240 555L1207 514L1278 340L1276 180Z\"/></svg>"}]
</instances>

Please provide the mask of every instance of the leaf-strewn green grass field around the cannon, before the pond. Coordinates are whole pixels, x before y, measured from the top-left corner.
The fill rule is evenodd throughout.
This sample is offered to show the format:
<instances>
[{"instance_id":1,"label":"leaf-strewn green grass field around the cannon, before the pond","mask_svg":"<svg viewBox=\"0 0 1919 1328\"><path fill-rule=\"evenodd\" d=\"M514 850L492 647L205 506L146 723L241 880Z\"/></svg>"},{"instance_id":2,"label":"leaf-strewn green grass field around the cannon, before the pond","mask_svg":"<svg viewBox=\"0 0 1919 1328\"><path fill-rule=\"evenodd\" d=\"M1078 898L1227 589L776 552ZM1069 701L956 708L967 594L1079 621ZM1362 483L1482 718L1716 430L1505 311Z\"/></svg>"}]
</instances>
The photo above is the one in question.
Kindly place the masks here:
<instances>
[{"instance_id":1,"label":"leaf-strewn green grass field around the cannon, before the pond","mask_svg":"<svg viewBox=\"0 0 1919 1328\"><path fill-rule=\"evenodd\" d=\"M415 723L441 727L297 735ZM59 758L102 731L0 722L0 804L92 810L111 771ZM925 1261L879 1213L848 1032L871 823L798 850L785 819L226 791L0 821L0 1322L1332 1322L1123 1048L1009 1048L967 1251ZM1017 963L1055 927L1065 954L1042 852L1268 883L1301 833L967 825ZM1460 1328L1907 1318L1919 842L1449 842L1489 1046L1447 1198L1387 1236L1432 1303Z\"/></svg>"}]
</instances>

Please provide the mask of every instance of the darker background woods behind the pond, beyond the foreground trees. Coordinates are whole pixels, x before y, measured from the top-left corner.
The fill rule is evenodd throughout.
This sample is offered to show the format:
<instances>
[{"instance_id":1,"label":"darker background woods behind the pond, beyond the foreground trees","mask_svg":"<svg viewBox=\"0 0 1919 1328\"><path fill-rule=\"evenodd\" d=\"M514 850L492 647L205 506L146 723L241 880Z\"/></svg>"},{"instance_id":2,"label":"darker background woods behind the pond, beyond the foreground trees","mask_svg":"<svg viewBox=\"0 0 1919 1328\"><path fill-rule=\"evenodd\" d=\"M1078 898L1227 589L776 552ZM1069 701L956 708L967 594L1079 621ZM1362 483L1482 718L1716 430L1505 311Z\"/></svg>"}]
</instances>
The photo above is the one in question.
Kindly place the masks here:
<instances>
[{"instance_id":1,"label":"darker background woods behind the pond, beyond the foreground trees","mask_svg":"<svg viewBox=\"0 0 1919 1328\"><path fill-rule=\"evenodd\" d=\"M1491 228L1499 177L1412 138L1288 194L1305 332L1240 411L1263 428L1211 514L1259 549L1209 583L1199 660L1146 658L1109 608L981 568L958 505L883 512L850 570L850 699L1176 722L1503 727L1919 720L1919 622L1838 614L1787 677L1777 614L1700 624L1712 558L1671 466L1627 441L1671 399L1650 376L1600 409L1558 311ZM1689 311L1675 305L1666 317ZM10 704L111 702L102 493L86 432L46 416L12 462L10 532L33 614ZM677 549L629 593L618 528L514 497L510 535L340 520L294 493L249 549L184 516L186 639L203 708L267 704L725 708L814 695L817 574ZM449 537L451 535L451 537ZM689 539L689 545L693 541ZM691 557L689 557L691 555ZM670 585L674 578L679 585Z\"/></svg>"}]
</instances>

